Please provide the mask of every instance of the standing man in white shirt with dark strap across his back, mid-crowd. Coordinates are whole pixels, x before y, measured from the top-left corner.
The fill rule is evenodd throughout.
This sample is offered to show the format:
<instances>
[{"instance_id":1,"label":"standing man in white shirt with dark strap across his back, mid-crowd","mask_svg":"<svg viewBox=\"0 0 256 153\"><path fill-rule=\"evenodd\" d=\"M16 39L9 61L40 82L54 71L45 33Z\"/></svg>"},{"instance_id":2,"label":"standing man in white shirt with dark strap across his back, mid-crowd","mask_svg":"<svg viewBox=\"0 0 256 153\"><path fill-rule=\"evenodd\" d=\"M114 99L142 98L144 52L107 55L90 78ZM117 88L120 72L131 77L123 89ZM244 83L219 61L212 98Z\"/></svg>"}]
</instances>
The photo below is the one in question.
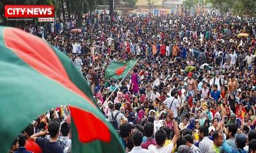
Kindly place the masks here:
<instances>
[{"instance_id":1,"label":"standing man in white shirt with dark strap across his back, mid-crowd","mask_svg":"<svg viewBox=\"0 0 256 153\"><path fill-rule=\"evenodd\" d=\"M178 120L178 111L179 111L179 101L178 101L177 97L178 97L178 92L173 90L171 92L171 97L167 98L163 102L163 106L166 110L173 111L175 120Z\"/></svg>"}]
</instances>

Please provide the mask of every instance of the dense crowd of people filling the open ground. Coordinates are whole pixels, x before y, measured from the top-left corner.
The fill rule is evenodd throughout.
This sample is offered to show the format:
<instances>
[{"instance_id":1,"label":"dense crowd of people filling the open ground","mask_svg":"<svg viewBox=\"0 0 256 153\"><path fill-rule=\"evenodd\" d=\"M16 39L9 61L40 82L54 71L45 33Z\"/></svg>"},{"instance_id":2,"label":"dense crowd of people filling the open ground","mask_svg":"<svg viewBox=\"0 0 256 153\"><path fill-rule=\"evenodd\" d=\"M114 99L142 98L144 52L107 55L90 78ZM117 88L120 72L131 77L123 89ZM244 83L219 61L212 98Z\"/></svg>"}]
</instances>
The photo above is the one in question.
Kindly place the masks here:
<instances>
[{"instance_id":1,"label":"dense crowd of people filling the open ground","mask_svg":"<svg viewBox=\"0 0 256 153\"><path fill-rule=\"evenodd\" d=\"M256 151L253 18L116 14L109 20L86 18L81 32L71 31L76 20L20 28L74 61L125 152ZM138 58L122 82L104 77L113 61ZM71 152L69 133L68 108L61 106L29 125L12 151Z\"/></svg>"}]
</instances>

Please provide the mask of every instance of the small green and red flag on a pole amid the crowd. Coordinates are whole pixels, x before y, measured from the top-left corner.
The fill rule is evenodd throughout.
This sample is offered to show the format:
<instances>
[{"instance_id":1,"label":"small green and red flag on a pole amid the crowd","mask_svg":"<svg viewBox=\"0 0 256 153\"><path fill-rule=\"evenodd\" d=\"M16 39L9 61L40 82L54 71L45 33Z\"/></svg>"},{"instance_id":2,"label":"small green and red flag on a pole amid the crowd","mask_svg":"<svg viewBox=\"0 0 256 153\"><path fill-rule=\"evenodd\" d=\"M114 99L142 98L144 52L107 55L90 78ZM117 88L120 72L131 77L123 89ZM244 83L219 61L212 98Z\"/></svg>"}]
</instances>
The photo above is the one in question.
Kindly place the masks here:
<instances>
[{"instance_id":1,"label":"small green and red flag on a pole amid the crowd","mask_svg":"<svg viewBox=\"0 0 256 153\"><path fill-rule=\"evenodd\" d=\"M105 71L105 78L124 78L129 71L133 68L136 64L138 59L134 59L127 62L112 62Z\"/></svg>"}]
</instances>

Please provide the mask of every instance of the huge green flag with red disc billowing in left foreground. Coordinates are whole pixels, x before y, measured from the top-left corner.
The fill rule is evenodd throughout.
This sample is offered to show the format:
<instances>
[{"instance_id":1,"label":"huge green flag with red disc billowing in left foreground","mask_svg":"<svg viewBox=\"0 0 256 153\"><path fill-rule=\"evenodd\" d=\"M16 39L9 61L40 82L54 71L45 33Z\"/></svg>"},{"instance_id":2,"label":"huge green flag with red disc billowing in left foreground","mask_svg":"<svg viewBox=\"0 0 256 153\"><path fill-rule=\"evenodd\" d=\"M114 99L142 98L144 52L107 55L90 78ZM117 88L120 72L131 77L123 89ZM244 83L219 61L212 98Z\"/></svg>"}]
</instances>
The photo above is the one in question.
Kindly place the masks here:
<instances>
[{"instance_id":1,"label":"huge green flag with red disc billowing in left foreground","mask_svg":"<svg viewBox=\"0 0 256 153\"><path fill-rule=\"evenodd\" d=\"M0 152L32 119L68 105L72 152L124 152L90 87L67 56L20 29L0 27Z\"/></svg>"}]
</instances>

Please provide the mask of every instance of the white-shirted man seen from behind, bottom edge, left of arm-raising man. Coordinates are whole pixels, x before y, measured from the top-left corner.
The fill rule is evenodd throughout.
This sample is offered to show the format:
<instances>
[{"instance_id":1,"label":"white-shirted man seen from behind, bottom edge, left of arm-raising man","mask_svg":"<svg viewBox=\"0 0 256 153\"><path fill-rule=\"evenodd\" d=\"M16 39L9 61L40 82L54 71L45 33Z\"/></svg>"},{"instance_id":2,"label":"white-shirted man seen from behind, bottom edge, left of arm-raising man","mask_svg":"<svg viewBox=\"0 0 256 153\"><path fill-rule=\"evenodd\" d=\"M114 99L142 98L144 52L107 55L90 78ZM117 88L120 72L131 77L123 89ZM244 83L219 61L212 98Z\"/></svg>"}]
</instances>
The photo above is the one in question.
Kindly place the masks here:
<instances>
[{"instance_id":1,"label":"white-shirted man seen from behind, bottom edge, left of arm-raising man","mask_svg":"<svg viewBox=\"0 0 256 153\"><path fill-rule=\"evenodd\" d=\"M141 148L141 142L143 140L143 134L141 133L140 130L134 131L132 133L132 143L134 147L132 148L131 152L129 153L150 153L147 149Z\"/></svg>"}]
</instances>

